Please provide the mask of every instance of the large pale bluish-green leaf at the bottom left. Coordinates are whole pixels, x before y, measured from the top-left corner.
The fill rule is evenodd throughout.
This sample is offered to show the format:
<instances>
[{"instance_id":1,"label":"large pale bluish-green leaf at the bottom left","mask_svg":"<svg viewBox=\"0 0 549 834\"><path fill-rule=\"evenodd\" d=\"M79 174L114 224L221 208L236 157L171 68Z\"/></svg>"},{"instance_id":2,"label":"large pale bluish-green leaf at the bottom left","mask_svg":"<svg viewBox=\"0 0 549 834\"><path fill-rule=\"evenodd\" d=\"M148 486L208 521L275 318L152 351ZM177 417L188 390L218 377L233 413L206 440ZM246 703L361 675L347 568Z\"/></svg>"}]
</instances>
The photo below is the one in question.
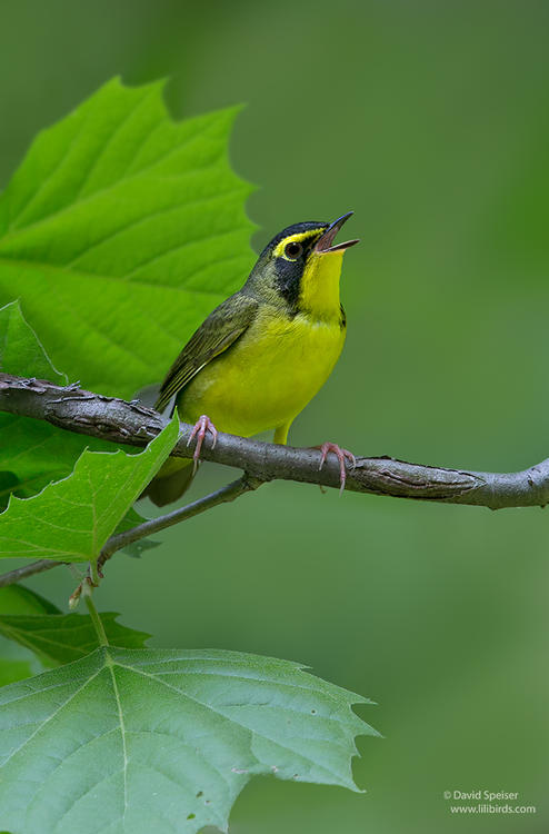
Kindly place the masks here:
<instances>
[{"instance_id":1,"label":"large pale bluish-green leaf at the bottom left","mask_svg":"<svg viewBox=\"0 0 549 834\"><path fill-rule=\"evenodd\" d=\"M0 825L192 834L254 774L357 790L353 703L287 661L99 648L0 691Z\"/></svg>"}]
</instances>

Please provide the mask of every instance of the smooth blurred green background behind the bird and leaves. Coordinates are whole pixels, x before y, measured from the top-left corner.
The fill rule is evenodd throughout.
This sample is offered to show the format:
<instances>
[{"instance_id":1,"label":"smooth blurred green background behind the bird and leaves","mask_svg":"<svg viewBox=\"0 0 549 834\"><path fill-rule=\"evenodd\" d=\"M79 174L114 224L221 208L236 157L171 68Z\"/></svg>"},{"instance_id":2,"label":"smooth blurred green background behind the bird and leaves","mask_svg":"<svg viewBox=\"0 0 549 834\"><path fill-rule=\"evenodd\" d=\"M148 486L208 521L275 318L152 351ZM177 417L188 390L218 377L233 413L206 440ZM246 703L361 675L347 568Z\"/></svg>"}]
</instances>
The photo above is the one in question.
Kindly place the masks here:
<instances>
[{"instance_id":1,"label":"smooth blurred green background behind the bird and leaves","mask_svg":"<svg viewBox=\"0 0 549 834\"><path fill-rule=\"evenodd\" d=\"M476 469L548 455L549 6L3 0L0 186L103 81L178 116L244 101L256 248L353 209L349 336L291 441ZM167 356L167 366L173 357ZM228 470L203 468L201 493ZM120 556L98 594L153 645L302 661L369 695L366 795L256 780L233 834L547 831L549 519L273 484ZM64 604L57 572L30 583ZM451 816L517 791L531 816Z\"/></svg>"}]
</instances>

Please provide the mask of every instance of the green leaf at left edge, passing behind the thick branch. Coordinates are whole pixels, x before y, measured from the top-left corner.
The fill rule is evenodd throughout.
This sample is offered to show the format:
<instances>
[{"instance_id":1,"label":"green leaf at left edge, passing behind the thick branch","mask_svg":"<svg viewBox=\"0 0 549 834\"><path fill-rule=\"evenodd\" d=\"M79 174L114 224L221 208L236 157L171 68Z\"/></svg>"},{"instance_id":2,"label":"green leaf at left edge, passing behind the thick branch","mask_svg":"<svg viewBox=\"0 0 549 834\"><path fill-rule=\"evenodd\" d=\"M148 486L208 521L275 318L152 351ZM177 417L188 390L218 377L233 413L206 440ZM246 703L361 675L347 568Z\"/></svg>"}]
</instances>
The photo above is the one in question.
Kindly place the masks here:
<instances>
[{"instance_id":1,"label":"green leaf at left edge, passing behind the thick branch","mask_svg":"<svg viewBox=\"0 0 549 834\"><path fill-rule=\"evenodd\" d=\"M0 370L66 384L24 320L19 302L0 309ZM86 447L112 450L112 444L63 431L46 420L0 411L0 509L11 493L27 498L52 480L67 477Z\"/></svg>"}]
</instances>

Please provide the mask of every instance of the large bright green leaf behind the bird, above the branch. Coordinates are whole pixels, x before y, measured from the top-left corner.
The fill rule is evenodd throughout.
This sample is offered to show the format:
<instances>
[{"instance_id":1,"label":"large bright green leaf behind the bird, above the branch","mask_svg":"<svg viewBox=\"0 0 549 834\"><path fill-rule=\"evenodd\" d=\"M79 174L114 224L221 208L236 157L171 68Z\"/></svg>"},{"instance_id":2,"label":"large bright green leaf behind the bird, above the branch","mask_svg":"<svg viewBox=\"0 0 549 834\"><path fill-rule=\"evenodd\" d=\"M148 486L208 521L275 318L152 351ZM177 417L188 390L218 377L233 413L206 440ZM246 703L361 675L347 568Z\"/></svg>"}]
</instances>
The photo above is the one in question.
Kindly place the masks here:
<instances>
[{"instance_id":1,"label":"large bright green leaf behind the bird, above the branch","mask_svg":"<svg viewBox=\"0 0 549 834\"><path fill-rule=\"evenodd\" d=\"M174 122L162 86L107 83L0 196L0 304L20 298L69 378L117 396L159 381L252 262L237 110Z\"/></svg>"}]
</instances>

